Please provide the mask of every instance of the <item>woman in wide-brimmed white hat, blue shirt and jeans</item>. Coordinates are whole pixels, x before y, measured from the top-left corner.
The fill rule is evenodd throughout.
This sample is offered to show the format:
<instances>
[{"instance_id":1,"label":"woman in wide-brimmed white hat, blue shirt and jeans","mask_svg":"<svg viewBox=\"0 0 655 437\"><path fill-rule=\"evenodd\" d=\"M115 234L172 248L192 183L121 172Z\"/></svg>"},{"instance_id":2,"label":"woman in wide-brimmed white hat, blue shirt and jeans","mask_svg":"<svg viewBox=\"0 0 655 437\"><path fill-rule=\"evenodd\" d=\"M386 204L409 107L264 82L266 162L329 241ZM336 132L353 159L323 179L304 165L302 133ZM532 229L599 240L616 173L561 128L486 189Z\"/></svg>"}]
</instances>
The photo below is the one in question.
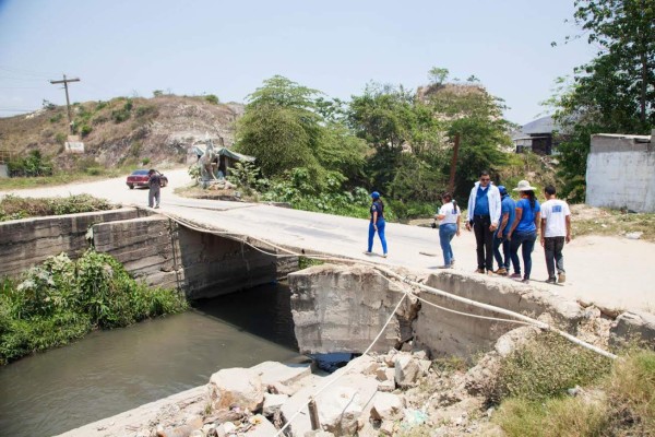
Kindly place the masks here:
<instances>
[{"instance_id":1,"label":"woman in wide-brimmed white hat, blue shirt and jeans","mask_svg":"<svg viewBox=\"0 0 655 437\"><path fill-rule=\"evenodd\" d=\"M510 240L510 255L514 273L510 276L524 284L529 283L532 272L532 251L537 240L537 224L540 223L541 208L535 196L535 188L527 180L521 180L514 191L521 193L521 200L516 202L516 216L508 234ZM522 247L523 279L521 279L521 263L519 262L519 248Z\"/></svg>"}]
</instances>

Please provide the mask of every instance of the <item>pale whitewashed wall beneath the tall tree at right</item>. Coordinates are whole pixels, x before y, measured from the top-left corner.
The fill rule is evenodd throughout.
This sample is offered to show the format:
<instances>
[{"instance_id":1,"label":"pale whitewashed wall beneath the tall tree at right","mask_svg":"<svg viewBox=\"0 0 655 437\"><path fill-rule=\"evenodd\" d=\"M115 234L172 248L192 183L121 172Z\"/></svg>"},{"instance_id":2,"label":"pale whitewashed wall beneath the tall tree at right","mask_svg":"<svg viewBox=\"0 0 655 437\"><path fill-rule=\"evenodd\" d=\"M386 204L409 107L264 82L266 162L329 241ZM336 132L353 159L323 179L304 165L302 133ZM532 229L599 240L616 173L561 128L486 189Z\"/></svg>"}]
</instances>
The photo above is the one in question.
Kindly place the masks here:
<instances>
[{"instance_id":1,"label":"pale whitewashed wall beneath the tall tree at right","mask_svg":"<svg viewBox=\"0 0 655 437\"><path fill-rule=\"evenodd\" d=\"M592 206L655 212L655 144L651 137L593 135L586 200Z\"/></svg>"}]
</instances>

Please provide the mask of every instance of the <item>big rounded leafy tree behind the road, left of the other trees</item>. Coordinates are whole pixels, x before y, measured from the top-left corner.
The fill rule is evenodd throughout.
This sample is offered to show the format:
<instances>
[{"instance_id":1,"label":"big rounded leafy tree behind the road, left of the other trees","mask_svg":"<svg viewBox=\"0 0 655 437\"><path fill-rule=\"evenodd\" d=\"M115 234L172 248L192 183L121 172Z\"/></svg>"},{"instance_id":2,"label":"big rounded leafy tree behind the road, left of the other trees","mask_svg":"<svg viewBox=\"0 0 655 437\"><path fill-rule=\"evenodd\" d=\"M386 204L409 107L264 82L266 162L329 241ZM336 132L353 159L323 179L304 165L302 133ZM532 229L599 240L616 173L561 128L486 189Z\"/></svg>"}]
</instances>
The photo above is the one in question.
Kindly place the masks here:
<instances>
[{"instance_id":1,"label":"big rounded leafy tree behind the road, left of the other trees","mask_svg":"<svg viewBox=\"0 0 655 437\"><path fill-rule=\"evenodd\" d=\"M307 173L313 190L361 178L367 146L340 121L343 104L321 94L279 75L264 81L248 97L238 151L257 157L267 178Z\"/></svg>"}]
</instances>

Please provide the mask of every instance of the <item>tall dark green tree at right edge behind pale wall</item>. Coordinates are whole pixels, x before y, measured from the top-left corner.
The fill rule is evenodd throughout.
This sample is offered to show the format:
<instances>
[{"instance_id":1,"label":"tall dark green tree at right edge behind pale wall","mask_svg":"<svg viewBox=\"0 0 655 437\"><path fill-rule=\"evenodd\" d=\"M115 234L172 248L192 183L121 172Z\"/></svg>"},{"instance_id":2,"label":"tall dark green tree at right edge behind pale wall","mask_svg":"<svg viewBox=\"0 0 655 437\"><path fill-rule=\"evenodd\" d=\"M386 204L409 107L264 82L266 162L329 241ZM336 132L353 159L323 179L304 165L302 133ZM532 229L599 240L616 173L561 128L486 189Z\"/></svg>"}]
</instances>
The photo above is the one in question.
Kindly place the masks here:
<instances>
[{"instance_id":1,"label":"tall dark green tree at right edge behind pale wall","mask_svg":"<svg viewBox=\"0 0 655 437\"><path fill-rule=\"evenodd\" d=\"M569 134L559 147L562 194L582 201L591 135L647 134L655 126L655 0L574 4L574 21L598 52L574 70L555 117Z\"/></svg>"}]
</instances>

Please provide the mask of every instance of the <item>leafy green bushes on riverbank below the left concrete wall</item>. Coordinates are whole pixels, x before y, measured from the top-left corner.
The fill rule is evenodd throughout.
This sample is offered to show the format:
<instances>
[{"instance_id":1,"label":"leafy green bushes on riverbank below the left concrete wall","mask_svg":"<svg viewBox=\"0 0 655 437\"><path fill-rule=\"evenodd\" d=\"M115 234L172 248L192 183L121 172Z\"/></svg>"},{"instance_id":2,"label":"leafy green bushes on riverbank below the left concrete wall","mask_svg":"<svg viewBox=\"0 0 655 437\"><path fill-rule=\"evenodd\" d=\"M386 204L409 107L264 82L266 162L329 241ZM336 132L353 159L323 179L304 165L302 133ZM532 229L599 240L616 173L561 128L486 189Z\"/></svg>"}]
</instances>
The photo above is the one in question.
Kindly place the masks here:
<instances>
[{"instance_id":1,"label":"leafy green bushes on riverbank below the left concrete wall","mask_svg":"<svg viewBox=\"0 0 655 437\"><path fill-rule=\"evenodd\" d=\"M50 257L0 281L0 364L67 344L93 329L126 327L188 308L175 290L150 288L108 255Z\"/></svg>"}]
</instances>

